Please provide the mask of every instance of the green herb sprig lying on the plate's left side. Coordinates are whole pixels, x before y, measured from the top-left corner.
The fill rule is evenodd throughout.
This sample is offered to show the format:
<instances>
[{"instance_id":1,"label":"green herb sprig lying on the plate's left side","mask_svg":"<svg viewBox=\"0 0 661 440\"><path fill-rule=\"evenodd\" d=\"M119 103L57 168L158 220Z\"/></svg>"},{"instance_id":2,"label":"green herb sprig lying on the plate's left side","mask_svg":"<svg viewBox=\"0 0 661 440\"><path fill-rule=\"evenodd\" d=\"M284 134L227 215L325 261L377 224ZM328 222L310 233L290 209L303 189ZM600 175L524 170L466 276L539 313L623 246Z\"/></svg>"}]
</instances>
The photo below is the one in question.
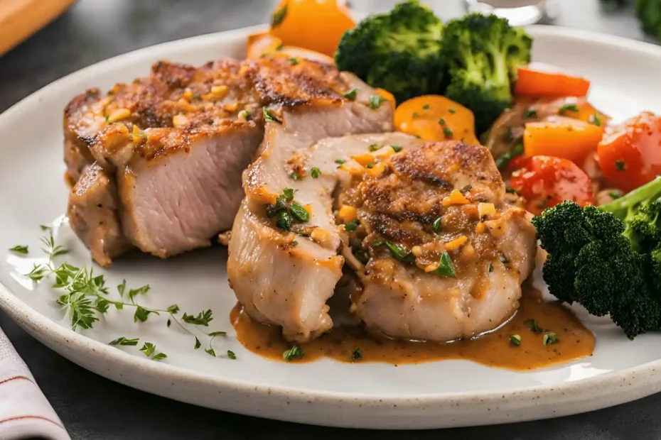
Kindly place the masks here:
<instances>
[{"instance_id":1,"label":"green herb sprig lying on the plate's left side","mask_svg":"<svg viewBox=\"0 0 661 440\"><path fill-rule=\"evenodd\" d=\"M195 339L195 349L200 348L202 345L198 336L193 333L183 323L196 326L198 330L209 338L209 347L205 352L210 356L216 356L213 350L212 343L216 336L225 336L225 331L213 331L206 333L200 327L209 326L210 321L213 321L213 312L203 310L198 314L183 313L178 317L180 312L177 304L172 304L166 309L156 309L146 307L136 302L136 298L145 295L150 290L149 285L144 285L136 289L127 289L127 281L122 280L122 284L117 286L117 294L119 300L112 299L109 296L109 289L106 285L104 275L95 275L92 269L87 266L79 268L70 263L61 263L55 265L55 258L69 253L68 249L63 248L55 243L53 238L53 229L48 226L41 226L42 231L48 231L48 236L42 237L41 242L44 244L42 250L48 255L48 262L43 264L35 264L33 269L24 274L24 276L33 280L33 282L41 282L45 277L55 277L55 282L52 285L54 289L63 290L64 293L58 297L56 302L63 306L65 313L68 315L72 330L78 327L82 329L92 329L96 321L102 314L105 314L110 307L117 310L125 308L134 308L133 315L134 322L144 322L149 319L150 314L157 316L167 315L168 320L166 325L169 327L172 321L176 322L181 329L193 336ZM183 321L183 323L182 323ZM119 338L111 342L111 345L137 345L138 339ZM141 351L146 356L154 361L161 361L166 358L165 353L155 353L156 348L153 343L144 343Z\"/></svg>"}]
</instances>

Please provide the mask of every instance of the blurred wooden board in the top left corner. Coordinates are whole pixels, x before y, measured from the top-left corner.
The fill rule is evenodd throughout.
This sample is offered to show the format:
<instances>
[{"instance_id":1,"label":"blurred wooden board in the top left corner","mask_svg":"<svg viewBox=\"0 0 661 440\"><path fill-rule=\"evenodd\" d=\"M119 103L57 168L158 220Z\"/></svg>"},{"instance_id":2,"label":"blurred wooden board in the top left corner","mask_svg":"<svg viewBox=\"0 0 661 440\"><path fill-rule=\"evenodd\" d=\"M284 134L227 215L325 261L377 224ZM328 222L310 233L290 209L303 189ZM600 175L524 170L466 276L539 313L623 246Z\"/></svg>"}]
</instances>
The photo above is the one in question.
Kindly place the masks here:
<instances>
[{"instance_id":1,"label":"blurred wooden board in the top left corner","mask_svg":"<svg viewBox=\"0 0 661 440\"><path fill-rule=\"evenodd\" d=\"M53 21L75 0L0 0L0 55Z\"/></svg>"}]
</instances>

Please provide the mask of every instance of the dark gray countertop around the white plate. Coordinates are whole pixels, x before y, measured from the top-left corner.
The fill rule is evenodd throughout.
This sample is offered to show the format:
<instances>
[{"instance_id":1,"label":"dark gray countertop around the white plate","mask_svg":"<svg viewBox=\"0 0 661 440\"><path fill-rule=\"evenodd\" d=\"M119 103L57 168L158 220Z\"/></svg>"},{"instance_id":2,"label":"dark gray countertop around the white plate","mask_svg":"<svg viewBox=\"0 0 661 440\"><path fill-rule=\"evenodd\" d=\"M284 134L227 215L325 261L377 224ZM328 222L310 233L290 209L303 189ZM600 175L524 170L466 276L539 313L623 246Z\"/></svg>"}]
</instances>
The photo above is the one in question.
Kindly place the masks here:
<instances>
[{"instance_id":1,"label":"dark gray countertop around the white plate","mask_svg":"<svg viewBox=\"0 0 661 440\"><path fill-rule=\"evenodd\" d=\"M597 0L558 1L560 16L555 23L561 26L644 38L631 11L604 13ZM374 11L389 9L395 2L354 0L352 4L362 11ZM443 17L462 12L458 0L426 3L434 5ZM273 0L79 0L43 31L0 57L0 111L55 79L114 55L168 40L264 23L274 4ZM72 439L331 439L352 434L448 440L661 438L661 394L561 419L444 431L360 433L254 419L112 383L50 351L1 313L0 327L31 368Z\"/></svg>"}]
</instances>

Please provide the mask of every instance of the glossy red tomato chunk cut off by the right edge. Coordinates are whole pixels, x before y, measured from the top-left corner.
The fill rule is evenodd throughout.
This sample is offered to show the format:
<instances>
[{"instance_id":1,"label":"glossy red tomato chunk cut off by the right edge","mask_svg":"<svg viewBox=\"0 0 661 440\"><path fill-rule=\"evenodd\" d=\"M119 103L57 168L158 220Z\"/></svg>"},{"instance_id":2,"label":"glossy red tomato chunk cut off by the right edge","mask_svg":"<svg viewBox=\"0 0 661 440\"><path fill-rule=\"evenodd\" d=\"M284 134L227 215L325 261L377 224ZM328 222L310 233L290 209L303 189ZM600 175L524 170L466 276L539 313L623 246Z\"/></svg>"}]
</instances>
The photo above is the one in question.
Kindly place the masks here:
<instances>
[{"instance_id":1,"label":"glossy red tomato chunk cut off by the right edge","mask_svg":"<svg viewBox=\"0 0 661 440\"><path fill-rule=\"evenodd\" d=\"M661 174L661 116L650 111L606 131L597 148L604 177L632 191Z\"/></svg>"}]
</instances>

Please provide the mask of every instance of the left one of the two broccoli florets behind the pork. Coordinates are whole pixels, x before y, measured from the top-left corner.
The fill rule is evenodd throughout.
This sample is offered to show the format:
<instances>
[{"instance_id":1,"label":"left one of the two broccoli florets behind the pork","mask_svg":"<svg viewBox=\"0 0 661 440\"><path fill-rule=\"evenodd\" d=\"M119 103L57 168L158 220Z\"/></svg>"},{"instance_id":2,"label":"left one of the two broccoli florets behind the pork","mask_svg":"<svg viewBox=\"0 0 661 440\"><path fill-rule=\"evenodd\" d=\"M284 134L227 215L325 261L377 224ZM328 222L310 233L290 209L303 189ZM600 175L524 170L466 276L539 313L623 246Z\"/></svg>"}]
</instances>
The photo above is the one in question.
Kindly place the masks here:
<instances>
[{"instance_id":1,"label":"left one of the two broccoli florets behind the pork","mask_svg":"<svg viewBox=\"0 0 661 440\"><path fill-rule=\"evenodd\" d=\"M340 70L355 73L397 102L421 94L441 94L443 23L417 0L372 15L345 32L335 53Z\"/></svg>"}]
</instances>

